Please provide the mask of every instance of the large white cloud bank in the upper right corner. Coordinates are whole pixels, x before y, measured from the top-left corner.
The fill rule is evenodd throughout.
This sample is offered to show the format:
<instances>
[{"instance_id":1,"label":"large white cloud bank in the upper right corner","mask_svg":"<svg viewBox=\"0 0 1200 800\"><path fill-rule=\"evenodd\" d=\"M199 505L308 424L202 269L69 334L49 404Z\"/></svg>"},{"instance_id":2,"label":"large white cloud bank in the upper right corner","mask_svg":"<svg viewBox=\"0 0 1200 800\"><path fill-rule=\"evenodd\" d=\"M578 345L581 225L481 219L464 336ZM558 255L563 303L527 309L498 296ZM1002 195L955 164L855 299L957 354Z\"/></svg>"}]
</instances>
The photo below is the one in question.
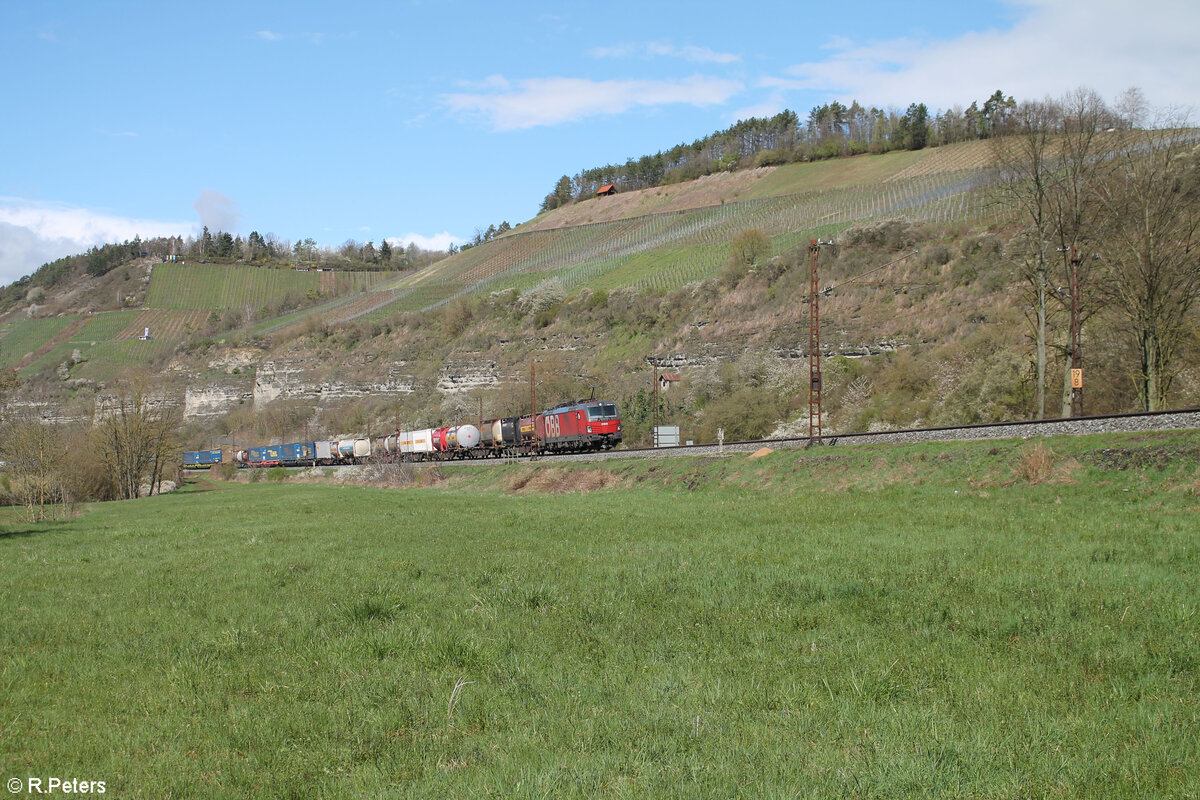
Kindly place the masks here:
<instances>
[{"instance_id":1,"label":"large white cloud bank in the upper right corner","mask_svg":"<svg viewBox=\"0 0 1200 800\"><path fill-rule=\"evenodd\" d=\"M954 40L827 42L832 55L797 64L767 85L812 90L874 106L930 108L984 100L997 89L1018 100L1078 86L1115 98L1140 86L1154 106L1200 106L1200 5L1190 0L1008 0L1007 30Z\"/></svg>"}]
</instances>

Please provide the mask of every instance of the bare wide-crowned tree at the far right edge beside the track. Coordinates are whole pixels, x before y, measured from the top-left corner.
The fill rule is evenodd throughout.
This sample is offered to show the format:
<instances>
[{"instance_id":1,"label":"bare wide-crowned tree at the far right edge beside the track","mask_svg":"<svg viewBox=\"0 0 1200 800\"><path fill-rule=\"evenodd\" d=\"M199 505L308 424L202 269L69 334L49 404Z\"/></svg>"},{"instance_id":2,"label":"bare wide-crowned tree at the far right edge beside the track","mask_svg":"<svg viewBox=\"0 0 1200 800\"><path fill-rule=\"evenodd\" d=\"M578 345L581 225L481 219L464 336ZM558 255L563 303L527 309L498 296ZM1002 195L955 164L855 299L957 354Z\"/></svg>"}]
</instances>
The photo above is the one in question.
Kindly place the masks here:
<instances>
[{"instance_id":1,"label":"bare wide-crowned tree at the far right edge beside the track","mask_svg":"<svg viewBox=\"0 0 1200 800\"><path fill-rule=\"evenodd\" d=\"M1140 104L1127 106L1140 113ZM1134 339L1133 377L1147 411L1165 408L1187 315L1200 297L1196 138L1180 115L1122 134L1097 188L1106 242L1104 295Z\"/></svg>"}]
</instances>

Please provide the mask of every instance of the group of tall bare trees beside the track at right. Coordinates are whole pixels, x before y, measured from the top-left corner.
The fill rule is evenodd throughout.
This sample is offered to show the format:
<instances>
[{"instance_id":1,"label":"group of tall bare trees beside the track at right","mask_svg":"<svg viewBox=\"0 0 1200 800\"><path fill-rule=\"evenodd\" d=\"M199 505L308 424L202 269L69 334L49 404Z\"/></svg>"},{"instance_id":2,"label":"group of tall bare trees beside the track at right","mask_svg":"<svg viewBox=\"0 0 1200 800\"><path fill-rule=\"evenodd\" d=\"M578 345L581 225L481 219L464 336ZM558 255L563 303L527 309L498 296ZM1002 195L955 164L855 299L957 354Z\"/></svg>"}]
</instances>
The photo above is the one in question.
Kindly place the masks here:
<instances>
[{"instance_id":1,"label":"group of tall bare trees beside the track at right","mask_svg":"<svg viewBox=\"0 0 1200 800\"><path fill-rule=\"evenodd\" d=\"M1049 351L1070 347L1072 247L1084 257L1085 320L1099 309L1118 314L1139 354L1129 373L1141 407L1165 407L1200 299L1200 137L1188 125L1152 112L1136 90L1110 107L1080 89L1021 103L1006 136L994 139L1001 199L1020 213L1039 417ZM1063 361L1067 415L1070 362Z\"/></svg>"}]
</instances>

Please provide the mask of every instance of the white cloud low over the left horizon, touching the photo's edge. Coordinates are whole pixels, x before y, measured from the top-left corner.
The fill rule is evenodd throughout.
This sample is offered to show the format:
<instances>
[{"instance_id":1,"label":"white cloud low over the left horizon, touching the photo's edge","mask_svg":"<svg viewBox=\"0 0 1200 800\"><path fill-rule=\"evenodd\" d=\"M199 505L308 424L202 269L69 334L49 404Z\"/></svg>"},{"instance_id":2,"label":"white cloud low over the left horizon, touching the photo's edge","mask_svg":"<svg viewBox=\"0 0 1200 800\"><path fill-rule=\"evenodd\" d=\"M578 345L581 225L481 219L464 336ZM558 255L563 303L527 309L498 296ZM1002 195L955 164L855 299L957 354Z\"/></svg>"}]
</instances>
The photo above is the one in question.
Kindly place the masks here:
<instances>
[{"instance_id":1,"label":"white cloud low over the left horizon, touching the photo's edge","mask_svg":"<svg viewBox=\"0 0 1200 800\"><path fill-rule=\"evenodd\" d=\"M96 245L134 236L178 236L194 227L192 222L138 219L59 203L0 197L0 284Z\"/></svg>"}]
</instances>

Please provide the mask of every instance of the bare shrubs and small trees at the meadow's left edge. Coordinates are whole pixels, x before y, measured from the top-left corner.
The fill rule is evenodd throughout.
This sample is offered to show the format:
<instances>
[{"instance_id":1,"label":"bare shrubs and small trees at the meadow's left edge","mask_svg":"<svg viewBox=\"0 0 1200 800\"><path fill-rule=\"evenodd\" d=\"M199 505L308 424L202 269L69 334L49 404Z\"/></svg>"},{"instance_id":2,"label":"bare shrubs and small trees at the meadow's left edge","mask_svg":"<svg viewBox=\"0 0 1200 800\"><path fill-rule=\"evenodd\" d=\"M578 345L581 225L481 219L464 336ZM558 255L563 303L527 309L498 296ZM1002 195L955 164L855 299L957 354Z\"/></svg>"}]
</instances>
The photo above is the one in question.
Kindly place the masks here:
<instances>
[{"instance_id":1,"label":"bare shrubs and small trees at the meadow's left edge","mask_svg":"<svg viewBox=\"0 0 1200 800\"><path fill-rule=\"evenodd\" d=\"M16 389L0 374L0 409ZM83 500L154 494L181 459L181 408L145 377L114 383L86 426L62 426L28 414L0 417L0 500L22 505L30 521Z\"/></svg>"}]
</instances>

